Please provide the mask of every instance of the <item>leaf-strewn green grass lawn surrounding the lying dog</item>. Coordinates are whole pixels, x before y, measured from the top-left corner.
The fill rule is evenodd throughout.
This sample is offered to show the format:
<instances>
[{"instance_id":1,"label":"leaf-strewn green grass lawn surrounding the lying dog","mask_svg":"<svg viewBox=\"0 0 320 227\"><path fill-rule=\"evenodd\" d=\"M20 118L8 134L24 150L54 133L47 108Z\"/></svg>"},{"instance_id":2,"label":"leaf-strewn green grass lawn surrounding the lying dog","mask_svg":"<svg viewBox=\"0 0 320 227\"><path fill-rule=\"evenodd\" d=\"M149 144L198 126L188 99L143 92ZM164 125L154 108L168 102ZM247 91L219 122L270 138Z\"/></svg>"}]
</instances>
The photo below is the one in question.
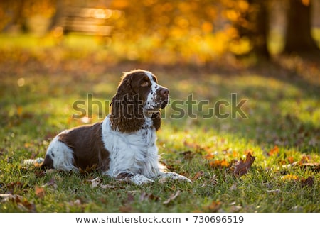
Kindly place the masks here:
<instances>
[{"instance_id":1,"label":"leaf-strewn green grass lawn surrounding the lying dog","mask_svg":"<svg viewBox=\"0 0 320 227\"><path fill-rule=\"evenodd\" d=\"M164 67L107 63L107 50L70 50L0 48L1 212L320 211L319 63L296 57L250 68ZM134 68L154 72L170 89L159 153L169 170L193 184L136 186L99 172L44 173L23 163L44 157L65 128L101 121L122 72ZM79 114L73 104L87 104L88 94L90 118L73 118ZM245 117L231 108L242 100ZM230 116L218 118L217 107ZM237 161L249 151L255 162L235 176Z\"/></svg>"}]
</instances>

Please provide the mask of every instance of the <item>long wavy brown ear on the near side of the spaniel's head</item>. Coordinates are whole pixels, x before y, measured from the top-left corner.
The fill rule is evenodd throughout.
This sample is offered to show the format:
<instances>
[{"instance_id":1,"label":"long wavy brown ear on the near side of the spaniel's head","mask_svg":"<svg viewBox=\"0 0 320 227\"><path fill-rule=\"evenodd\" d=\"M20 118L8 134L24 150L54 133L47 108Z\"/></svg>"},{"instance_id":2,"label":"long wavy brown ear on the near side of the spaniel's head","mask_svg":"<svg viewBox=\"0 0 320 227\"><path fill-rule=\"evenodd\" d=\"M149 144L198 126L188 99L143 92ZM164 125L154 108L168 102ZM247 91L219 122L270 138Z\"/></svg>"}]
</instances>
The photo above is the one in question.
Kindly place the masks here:
<instances>
[{"instance_id":1,"label":"long wavy brown ear on the near side of the spaniel's head","mask_svg":"<svg viewBox=\"0 0 320 227\"><path fill-rule=\"evenodd\" d=\"M112 129L125 133L138 131L144 124L143 104L132 91L131 80L125 75L110 104Z\"/></svg>"}]
</instances>

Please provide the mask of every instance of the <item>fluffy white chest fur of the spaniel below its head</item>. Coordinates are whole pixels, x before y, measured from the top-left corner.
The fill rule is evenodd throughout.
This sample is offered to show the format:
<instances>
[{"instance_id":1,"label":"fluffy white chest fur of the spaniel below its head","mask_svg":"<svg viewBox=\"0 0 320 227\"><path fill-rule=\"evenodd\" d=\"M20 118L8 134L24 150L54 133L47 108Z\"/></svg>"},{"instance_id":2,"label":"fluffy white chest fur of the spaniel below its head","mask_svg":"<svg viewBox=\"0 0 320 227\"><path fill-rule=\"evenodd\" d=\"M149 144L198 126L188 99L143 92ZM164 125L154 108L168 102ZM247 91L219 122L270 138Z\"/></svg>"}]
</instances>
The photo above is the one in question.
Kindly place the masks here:
<instances>
[{"instance_id":1,"label":"fluffy white chest fur of the spaniel below its head","mask_svg":"<svg viewBox=\"0 0 320 227\"><path fill-rule=\"evenodd\" d=\"M144 126L134 133L114 131L107 116L102 123L102 140L110 152L107 175L117 177L121 172L142 174L146 177L159 175L156 130L152 120L146 118Z\"/></svg>"}]
</instances>

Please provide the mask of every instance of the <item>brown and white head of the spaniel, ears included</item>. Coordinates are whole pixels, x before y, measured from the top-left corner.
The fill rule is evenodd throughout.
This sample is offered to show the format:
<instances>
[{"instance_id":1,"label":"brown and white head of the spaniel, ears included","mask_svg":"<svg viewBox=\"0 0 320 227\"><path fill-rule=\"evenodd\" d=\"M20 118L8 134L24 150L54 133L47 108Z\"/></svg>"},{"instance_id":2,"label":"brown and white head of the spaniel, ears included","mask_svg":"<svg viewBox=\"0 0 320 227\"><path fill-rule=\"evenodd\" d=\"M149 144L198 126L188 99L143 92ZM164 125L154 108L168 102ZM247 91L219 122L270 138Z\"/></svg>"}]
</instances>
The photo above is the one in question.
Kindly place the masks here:
<instances>
[{"instance_id":1,"label":"brown and white head of the spaniel, ears included","mask_svg":"<svg viewBox=\"0 0 320 227\"><path fill-rule=\"evenodd\" d=\"M126 72L112 99L112 127L124 132L137 131L149 117L159 129L159 109L168 102L169 89L159 85L154 74L145 70Z\"/></svg>"}]
</instances>

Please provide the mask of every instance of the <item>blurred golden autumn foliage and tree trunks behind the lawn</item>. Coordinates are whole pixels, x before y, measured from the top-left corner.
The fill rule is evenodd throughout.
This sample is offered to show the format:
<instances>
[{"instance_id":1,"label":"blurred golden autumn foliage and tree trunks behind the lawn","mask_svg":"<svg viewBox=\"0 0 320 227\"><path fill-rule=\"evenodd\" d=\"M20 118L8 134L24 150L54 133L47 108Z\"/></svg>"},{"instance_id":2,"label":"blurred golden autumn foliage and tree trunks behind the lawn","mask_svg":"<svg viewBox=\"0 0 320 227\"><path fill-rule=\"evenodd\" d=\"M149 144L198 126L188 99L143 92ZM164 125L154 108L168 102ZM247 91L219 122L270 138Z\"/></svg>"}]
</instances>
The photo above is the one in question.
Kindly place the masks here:
<instances>
[{"instance_id":1,"label":"blurred golden autumn foliage and tree trunks behind the lawn","mask_svg":"<svg viewBox=\"0 0 320 227\"><path fill-rule=\"evenodd\" d=\"M1 46L99 45L116 60L169 65L319 55L319 12L319 0L3 0ZM74 34L92 37L79 45Z\"/></svg>"}]
</instances>

